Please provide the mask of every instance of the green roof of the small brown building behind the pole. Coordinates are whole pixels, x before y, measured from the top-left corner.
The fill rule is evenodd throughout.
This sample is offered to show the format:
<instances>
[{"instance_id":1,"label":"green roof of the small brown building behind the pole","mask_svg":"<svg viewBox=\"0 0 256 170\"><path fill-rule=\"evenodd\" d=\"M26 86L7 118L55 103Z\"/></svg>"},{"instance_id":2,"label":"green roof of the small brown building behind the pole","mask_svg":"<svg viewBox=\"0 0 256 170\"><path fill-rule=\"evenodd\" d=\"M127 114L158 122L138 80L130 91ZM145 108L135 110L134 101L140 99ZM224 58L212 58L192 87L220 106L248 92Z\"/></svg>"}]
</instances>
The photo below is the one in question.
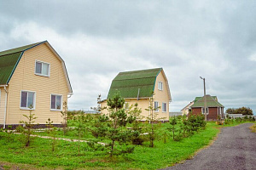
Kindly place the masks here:
<instances>
[{"instance_id":1,"label":"green roof of the small brown building behind the pole","mask_svg":"<svg viewBox=\"0 0 256 170\"><path fill-rule=\"evenodd\" d=\"M206 97L207 107L224 107L218 103L217 96L206 95ZM196 97L194 105L191 105L191 108L193 107L204 107L204 97Z\"/></svg>"}]
</instances>

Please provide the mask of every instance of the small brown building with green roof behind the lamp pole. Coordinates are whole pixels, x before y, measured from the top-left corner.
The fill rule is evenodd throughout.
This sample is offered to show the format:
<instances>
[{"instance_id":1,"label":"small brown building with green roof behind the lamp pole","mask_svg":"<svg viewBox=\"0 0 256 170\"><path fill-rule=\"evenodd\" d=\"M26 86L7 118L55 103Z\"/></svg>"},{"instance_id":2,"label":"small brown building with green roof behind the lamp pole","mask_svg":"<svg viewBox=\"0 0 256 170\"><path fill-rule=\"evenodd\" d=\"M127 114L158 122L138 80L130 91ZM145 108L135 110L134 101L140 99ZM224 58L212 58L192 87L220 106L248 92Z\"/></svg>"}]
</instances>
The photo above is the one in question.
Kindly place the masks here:
<instances>
[{"instance_id":1,"label":"small brown building with green roof behind the lamp pole","mask_svg":"<svg viewBox=\"0 0 256 170\"><path fill-rule=\"evenodd\" d=\"M216 96L206 95L207 98L207 121L216 121L224 118L224 105L218 102ZM204 114L204 97L196 97L191 107L192 115Z\"/></svg>"}]
</instances>

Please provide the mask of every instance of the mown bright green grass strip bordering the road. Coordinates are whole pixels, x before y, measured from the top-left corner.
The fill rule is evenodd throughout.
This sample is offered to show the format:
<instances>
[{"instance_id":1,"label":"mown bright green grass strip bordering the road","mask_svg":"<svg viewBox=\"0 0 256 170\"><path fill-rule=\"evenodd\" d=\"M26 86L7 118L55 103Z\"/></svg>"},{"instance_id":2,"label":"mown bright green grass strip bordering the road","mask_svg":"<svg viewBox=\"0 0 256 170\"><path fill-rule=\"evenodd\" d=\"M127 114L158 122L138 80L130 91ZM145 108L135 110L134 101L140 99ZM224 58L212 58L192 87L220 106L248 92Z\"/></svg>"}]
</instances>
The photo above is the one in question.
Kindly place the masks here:
<instances>
[{"instance_id":1,"label":"mown bright green grass strip bordering the road","mask_svg":"<svg viewBox=\"0 0 256 170\"><path fill-rule=\"evenodd\" d=\"M234 126L234 123L228 126ZM166 128L162 124L160 128ZM227 125L226 125L227 126ZM80 143L80 156L78 143L57 141L55 151L51 151L51 139L34 138L30 147L20 142L20 135L13 135L8 142L6 133L0 133L0 165L5 168L14 165L23 168L57 168L57 169L157 169L169 167L173 164L191 158L197 150L211 143L220 127L215 122L208 122L207 128L195 133L181 141L173 141L171 137L166 144L162 140L155 141L154 148L146 144L136 146L133 153L124 156L109 158L102 150L91 150L88 144ZM20 167L19 166L19 167ZM27 167L26 167L27 166Z\"/></svg>"}]
</instances>

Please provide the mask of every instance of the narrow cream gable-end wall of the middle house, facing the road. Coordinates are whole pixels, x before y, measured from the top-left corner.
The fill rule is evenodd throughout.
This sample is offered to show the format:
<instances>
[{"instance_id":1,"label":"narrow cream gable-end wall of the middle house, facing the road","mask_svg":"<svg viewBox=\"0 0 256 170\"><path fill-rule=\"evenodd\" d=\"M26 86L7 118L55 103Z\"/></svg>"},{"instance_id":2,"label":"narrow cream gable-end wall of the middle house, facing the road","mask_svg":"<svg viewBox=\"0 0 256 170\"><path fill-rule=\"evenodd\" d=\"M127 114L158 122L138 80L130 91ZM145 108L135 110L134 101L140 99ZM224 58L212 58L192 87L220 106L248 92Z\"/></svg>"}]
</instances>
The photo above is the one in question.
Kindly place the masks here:
<instances>
[{"instance_id":1,"label":"narrow cream gable-end wall of the middle house, facing the road","mask_svg":"<svg viewBox=\"0 0 256 170\"><path fill-rule=\"evenodd\" d=\"M158 89L158 82L163 82L163 90ZM163 75L163 71L156 77L154 85L154 101L158 101L160 106L158 117L165 117L165 120L169 120L169 101L171 100L168 95L168 88L166 86L166 78ZM166 103L166 112L162 110L162 104Z\"/></svg>"}]
</instances>

